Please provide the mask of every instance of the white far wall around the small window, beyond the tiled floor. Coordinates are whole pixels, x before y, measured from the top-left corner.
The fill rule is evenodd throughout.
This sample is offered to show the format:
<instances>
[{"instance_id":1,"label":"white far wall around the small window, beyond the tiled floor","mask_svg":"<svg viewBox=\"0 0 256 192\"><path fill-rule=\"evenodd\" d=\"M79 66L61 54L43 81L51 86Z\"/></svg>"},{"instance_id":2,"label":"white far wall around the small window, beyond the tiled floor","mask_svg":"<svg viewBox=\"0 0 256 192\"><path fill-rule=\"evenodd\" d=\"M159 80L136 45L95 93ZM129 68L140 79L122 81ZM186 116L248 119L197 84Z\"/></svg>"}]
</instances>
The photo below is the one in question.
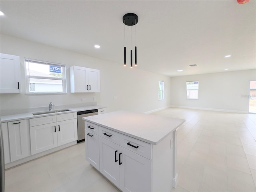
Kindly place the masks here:
<instances>
[{"instance_id":1,"label":"white far wall around the small window, beyond the tiled floor","mask_svg":"<svg viewBox=\"0 0 256 192\"><path fill-rule=\"evenodd\" d=\"M199 81L198 100L186 99L186 81ZM171 78L171 105L248 112L250 80L256 70L198 74Z\"/></svg>"}]
</instances>

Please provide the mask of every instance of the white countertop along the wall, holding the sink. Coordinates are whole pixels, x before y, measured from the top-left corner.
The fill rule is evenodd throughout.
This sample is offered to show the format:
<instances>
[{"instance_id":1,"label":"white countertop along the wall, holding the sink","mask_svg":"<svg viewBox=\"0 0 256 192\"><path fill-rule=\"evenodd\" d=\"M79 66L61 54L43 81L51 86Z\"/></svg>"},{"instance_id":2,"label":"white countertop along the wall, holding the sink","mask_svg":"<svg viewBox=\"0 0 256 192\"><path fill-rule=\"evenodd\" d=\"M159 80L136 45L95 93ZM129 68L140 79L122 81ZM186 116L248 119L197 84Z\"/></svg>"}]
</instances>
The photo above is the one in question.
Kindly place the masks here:
<instances>
[{"instance_id":1,"label":"white countertop along the wall, holding the sink","mask_svg":"<svg viewBox=\"0 0 256 192\"><path fill-rule=\"evenodd\" d=\"M49 114L35 115L35 116L32 114L32 113L35 113L35 112L14 114L14 115L6 115L6 116L1 116L1 123L8 122L8 121L17 121L17 120L30 119L30 118L39 118L39 117L44 117L44 116L52 116L52 115L58 115L58 114L64 114L64 113L73 113L73 112L93 110L93 109L102 109L102 108L106 108L106 106L93 105L93 106L84 106L84 107L76 107L76 108L65 108L65 109L68 109L70 111L58 112L58 113L49 113Z\"/></svg>"}]
</instances>

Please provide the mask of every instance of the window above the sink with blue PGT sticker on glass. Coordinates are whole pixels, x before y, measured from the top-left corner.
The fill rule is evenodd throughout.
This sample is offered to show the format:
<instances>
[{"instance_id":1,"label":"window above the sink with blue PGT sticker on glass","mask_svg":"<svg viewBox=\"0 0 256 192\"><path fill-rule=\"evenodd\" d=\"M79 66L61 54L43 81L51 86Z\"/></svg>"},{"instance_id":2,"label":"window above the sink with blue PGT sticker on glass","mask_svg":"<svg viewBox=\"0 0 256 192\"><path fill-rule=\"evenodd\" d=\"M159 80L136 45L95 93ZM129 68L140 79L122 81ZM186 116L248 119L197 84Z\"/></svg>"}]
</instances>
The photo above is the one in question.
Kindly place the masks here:
<instances>
[{"instance_id":1,"label":"window above the sink with blue PGT sticker on glass","mask_svg":"<svg viewBox=\"0 0 256 192\"><path fill-rule=\"evenodd\" d=\"M66 66L25 59L27 94L66 93Z\"/></svg>"}]
</instances>

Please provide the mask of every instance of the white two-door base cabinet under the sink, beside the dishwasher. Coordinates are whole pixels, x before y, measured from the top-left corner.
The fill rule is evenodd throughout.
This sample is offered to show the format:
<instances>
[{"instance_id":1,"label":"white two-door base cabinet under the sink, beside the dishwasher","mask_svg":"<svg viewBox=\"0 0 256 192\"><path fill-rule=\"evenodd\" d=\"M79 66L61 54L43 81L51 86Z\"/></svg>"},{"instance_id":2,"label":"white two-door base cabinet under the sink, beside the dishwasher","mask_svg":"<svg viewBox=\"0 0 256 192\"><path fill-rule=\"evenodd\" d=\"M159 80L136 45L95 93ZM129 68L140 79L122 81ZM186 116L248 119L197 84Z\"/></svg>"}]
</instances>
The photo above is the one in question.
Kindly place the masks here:
<instances>
[{"instance_id":1,"label":"white two-door base cabinet under the sink, beside the dishwasher","mask_svg":"<svg viewBox=\"0 0 256 192\"><path fill-rule=\"evenodd\" d=\"M76 113L30 119L32 155L76 140Z\"/></svg>"}]
</instances>

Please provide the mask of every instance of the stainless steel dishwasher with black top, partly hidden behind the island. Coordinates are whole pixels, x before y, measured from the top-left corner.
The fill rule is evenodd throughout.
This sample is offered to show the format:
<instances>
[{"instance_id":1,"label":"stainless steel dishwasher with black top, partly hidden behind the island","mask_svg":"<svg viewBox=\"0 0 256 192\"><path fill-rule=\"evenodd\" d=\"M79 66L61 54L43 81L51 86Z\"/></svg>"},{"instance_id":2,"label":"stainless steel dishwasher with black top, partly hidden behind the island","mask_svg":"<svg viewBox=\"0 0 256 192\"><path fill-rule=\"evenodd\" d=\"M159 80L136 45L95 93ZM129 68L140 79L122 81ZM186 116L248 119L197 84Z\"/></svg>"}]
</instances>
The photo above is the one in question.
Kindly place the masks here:
<instances>
[{"instance_id":1,"label":"stainless steel dishwasher with black top, partly hidden behind the island","mask_svg":"<svg viewBox=\"0 0 256 192\"><path fill-rule=\"evenodd\" d=\"M77 112L77 134L78 134L78 140L77 143L84 141L84 120L82 118L88 117L88 116L94 116L98 115L98 110L87 110L87 111L80 111Z\"/></svg>"}]
</instances>

